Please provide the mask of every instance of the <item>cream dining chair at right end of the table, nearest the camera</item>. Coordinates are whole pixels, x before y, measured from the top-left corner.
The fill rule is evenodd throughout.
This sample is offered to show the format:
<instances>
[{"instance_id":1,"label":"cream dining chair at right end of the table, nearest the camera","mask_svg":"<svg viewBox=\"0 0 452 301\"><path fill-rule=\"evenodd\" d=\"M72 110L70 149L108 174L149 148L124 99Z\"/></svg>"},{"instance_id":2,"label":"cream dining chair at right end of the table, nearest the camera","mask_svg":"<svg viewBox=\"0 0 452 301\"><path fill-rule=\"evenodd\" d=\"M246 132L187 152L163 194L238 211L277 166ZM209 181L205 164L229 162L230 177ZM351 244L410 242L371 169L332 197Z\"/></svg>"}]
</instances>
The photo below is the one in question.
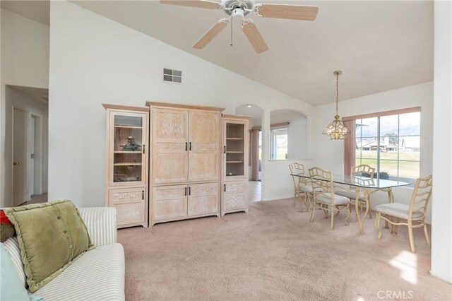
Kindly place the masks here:
<instances>
[{"instance_id":1,"label":"cream dining chair at right end of the table, nearest the camera","mask_svg":"<svg viewBox=\"0 0 452 301\"><path fill-rule=\"evenodd\" d=\"M397 234L397 227L399 225L408 226L408 236L410 237L412 252L416 252L415 242L412 237L412 228L424 227L425 240L427 240L427 245L430 247L427 223L425 223L430 196L432 196L432 175L416 180L415 189L412 191L410 199L410 205L405 205L403 203L385 203L376 206L376 237L378 239L381 238L380 220L383 219L386 220L386 222L391 223L392 234ZM400 219L406 220L406 223L400 223Z\"/></svg>"}]
</instances>

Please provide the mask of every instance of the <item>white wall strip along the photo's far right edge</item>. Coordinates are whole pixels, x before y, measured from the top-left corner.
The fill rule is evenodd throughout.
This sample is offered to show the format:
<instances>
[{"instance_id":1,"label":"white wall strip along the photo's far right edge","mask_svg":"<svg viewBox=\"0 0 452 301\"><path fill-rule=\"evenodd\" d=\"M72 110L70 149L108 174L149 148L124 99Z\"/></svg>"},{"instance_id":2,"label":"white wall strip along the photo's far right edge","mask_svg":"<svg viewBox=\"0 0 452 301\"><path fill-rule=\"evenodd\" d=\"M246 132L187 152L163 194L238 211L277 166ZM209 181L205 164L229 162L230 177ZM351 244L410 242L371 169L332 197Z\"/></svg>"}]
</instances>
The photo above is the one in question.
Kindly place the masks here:
<instances>
[{"instance_id":1,"label":"white wall strip along the photo's far right edge","mask_svg":"<svg viewBox=\"0 0 452 301\"><path fill-rule=\"evenodd\" d=\"M434 1L432 270L452 283L452 3Z\"/></svg>"}]
</instances>

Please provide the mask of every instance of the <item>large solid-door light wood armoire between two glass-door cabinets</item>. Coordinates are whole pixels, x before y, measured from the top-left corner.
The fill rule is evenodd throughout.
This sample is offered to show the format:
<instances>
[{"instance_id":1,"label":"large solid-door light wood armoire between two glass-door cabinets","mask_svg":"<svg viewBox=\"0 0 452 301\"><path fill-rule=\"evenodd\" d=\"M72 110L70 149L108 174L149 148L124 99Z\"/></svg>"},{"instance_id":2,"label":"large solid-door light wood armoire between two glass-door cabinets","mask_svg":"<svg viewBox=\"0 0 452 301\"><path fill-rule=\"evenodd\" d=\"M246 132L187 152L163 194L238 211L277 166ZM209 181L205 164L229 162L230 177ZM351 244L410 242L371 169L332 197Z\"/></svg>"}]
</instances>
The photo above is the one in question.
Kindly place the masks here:
<instances>
[{"instance_id":1,"label":"large solid-door light wood armoire between two glass-door cabinets","mask_svg":"<svg viewBox=\"0 0 452 301\"><path fill-rule=\"evenodd\" d=\"M222 107L147 102L149 224L220 216Z\"/></svg>"}]
</instances>

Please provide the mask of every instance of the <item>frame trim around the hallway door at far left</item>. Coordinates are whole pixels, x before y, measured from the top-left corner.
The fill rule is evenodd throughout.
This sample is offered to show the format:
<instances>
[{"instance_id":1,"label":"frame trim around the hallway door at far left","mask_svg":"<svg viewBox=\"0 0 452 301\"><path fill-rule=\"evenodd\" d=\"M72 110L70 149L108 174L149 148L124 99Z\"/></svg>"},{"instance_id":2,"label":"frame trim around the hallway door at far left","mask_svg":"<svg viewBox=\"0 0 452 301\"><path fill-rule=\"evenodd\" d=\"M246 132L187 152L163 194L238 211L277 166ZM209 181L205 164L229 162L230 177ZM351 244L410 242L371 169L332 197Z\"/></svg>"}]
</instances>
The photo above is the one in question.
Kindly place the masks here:
<instances>
[{"instance_id":1,"label":"frame trim around the hallway door at far left","mask_svg":"<svg viewBox=\"0 0 452 301\"><path fill-rule=\"evenodd\" d=\"M29 187L29 183L28 183L28 163L29 163L29 157L30 157L30 146L29 146L29 136L30 136L30 112L28 112L28 110L23 109L22 107L18 107L16 105L12 106L11 109L11 205L14 205L14 166L13 166L13 161L14 161L14 110L19 110L21 112L24 112L25 114L27 114L27 118L26 118L26 124L25 124L25 133L26 136L24 137L24 144L25 144L25 160L23 162L23 170L25 173L25 187L24 187L24 191L23 191L23 196L25 196L26 198L28 198L29 194L28 194L28 187ZM24 200L24 202L27 200Z\"/></svg>"}]
</instances>

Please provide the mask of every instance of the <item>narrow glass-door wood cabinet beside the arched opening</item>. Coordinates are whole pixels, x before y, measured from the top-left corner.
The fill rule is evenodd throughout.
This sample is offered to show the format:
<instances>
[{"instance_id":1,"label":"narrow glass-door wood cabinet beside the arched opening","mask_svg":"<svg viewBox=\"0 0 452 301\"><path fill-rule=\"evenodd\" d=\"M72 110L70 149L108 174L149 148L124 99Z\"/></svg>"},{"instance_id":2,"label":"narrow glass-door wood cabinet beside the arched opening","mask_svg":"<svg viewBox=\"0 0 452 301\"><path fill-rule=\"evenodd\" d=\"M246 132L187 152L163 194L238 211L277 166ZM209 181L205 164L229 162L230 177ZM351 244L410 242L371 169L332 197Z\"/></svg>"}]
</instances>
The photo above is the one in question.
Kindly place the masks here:
<instances>
[{"instance_id":1,"label":"narrow glass-door wood cabinet beside the arched opening","mask_svg":"<svg viewBox=\"0 0 452 301\"><path fill-rule=\"evenodd\" d=\"M221 216L248 212L249 118L222 115Z\"/></svg>"}]
</instances>

